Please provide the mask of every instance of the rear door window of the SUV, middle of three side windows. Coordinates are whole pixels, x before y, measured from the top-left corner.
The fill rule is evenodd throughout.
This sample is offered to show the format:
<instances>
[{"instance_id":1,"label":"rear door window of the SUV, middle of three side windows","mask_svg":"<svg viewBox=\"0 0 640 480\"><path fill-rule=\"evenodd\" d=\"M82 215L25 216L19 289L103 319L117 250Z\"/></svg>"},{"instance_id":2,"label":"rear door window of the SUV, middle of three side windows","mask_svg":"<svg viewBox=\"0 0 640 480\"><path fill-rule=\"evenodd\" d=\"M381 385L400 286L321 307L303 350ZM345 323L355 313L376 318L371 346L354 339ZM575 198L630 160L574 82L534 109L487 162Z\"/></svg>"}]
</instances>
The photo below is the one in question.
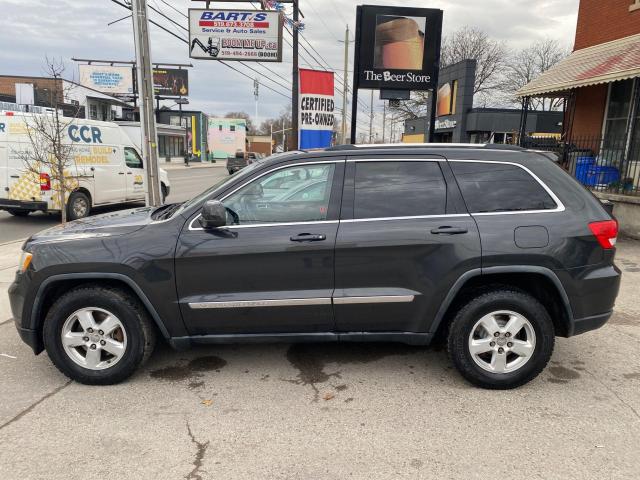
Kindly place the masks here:
<instances>
[{"instance_id":1,"label":"rear door window of the SUV, middle of three side windows","mask_svg":"<svg viewBox=\"0 0 640 480\"><path fill-rule=\"evenodd\" d=\"M443 215L447 186L438 162L357 162L354 218Z\"/></svg>"}]
</instances>

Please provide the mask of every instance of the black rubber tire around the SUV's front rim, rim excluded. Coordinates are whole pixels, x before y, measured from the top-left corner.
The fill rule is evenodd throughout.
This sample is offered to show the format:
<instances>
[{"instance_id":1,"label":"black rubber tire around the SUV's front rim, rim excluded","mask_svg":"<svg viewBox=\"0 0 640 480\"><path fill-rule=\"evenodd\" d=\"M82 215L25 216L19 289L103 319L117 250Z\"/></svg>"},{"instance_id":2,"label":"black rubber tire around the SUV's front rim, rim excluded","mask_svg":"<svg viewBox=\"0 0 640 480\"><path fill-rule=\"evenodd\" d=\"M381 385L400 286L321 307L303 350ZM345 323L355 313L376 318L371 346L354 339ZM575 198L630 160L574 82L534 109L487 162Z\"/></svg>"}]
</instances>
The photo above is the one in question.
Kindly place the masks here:
<instances>
[{"instance_id":1,"label":"black rubber tire around the SUV's front rim, rim excluded","mask_svg":"<svg viewBox=\"0 0 640 480\"><path fill-rule=\"evenodd\" d=\"M127 336L127 346L121 359L103 370L78 365L62 345L61 332L65 321L86 307L101 308L114 314L124 326ZM67 377L86 385L112 385L131 376L151 356L156 330L137 298L117 288L89 285L69 291L52 305L44 320L43 339L49 358Z\"/></svg>"}]
</instances>

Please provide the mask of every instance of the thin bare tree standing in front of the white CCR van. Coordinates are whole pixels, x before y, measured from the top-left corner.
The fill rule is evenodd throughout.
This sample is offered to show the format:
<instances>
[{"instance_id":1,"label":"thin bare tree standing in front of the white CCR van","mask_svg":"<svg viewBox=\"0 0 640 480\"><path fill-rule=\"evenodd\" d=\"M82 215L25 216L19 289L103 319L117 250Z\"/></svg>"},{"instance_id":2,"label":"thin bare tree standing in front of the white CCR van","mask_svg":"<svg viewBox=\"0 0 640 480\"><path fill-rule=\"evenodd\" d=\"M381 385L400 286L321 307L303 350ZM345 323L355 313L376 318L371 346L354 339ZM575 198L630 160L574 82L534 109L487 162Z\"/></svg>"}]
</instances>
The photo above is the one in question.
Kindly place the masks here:
<instances>
[{"instance_id":1,"label":"thin bare tree standing in front of the white CCR van","mask_svg":"<svg viewBox=\"0 0 640 480\"><path fill-rule=\"evenodd\" d=\"M29 140L26 149L17 152L22 160L26 173L34 182L41 184L43 176L48 177L51 190L58 196L57 203L62 213L62 223L67 221L67 200L69 194L77 188L77 177L70 171L75 166L73 144L64 142L67 128L79 112L70 117L63 116L61 107L72 88L64 86L62 75L65 66L62 60L45 59L45 72L53 79L49 90L50 113L25 115L25 133ZM47 179L47 177L44 177Z\"/></svg>"}]
</instances>

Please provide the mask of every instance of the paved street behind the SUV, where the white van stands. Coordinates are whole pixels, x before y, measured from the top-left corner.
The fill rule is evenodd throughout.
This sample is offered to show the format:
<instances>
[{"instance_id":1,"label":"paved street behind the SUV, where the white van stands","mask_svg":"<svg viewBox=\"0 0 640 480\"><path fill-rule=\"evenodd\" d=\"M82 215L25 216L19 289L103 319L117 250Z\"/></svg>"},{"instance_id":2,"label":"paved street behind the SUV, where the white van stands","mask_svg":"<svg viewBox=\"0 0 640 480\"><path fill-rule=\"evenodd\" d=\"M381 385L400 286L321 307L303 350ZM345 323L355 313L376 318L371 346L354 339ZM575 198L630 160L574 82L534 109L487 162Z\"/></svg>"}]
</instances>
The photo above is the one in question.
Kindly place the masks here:
<instances>
[{"instance_id":1,"label":"paved street behind the SUV, where the white van stands","mask_svg":"<svg viewBox=\"0 0 640 480\"><path fill-rule=\"evenodd\" d=\"M228 176L224 167L189 167L168 170L171 182L171 195L168 202L183 202L202 192L219 178ZM96 213L131 208L129 205L117 207L102 207ZM135 204L133 205L135 206ZM14 217L5 211L0 211L0 243L6 243L21 238L27 238L33 233L44 230L60 223L60 216L45 213L32 213L28 217Z\"/></svg>"}]
</instances>

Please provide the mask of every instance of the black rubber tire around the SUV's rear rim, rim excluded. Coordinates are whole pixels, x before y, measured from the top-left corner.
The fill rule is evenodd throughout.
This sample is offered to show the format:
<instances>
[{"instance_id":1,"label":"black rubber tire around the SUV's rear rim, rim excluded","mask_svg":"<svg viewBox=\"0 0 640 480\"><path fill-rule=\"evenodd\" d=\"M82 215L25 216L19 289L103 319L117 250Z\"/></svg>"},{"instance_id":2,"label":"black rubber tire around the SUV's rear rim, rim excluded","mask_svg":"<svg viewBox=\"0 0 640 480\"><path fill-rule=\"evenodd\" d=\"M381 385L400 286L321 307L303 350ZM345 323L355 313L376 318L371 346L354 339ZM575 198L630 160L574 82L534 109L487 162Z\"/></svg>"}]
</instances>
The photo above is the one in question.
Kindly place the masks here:
<instances>
[{"instance_id":1,"label":"black rubber tire around the SUV's rear rim, rim excluded","mask_svg":"<svg viewBox=\"0 0 640 480\"><path fill-rule=\"evenodd\" d=\"M485 315L510 310L524 316L535 333L535 347L529 360L519 369L493 373L481 368L473 359L469 337L476 323ZM553 322L544 306L525 292L504 288L480 293L458 310L449 327L447 347L449 357L462 376L472 384L506 390L533 380L546 367L555 343Z\"/></svg>"}]
</instances>

